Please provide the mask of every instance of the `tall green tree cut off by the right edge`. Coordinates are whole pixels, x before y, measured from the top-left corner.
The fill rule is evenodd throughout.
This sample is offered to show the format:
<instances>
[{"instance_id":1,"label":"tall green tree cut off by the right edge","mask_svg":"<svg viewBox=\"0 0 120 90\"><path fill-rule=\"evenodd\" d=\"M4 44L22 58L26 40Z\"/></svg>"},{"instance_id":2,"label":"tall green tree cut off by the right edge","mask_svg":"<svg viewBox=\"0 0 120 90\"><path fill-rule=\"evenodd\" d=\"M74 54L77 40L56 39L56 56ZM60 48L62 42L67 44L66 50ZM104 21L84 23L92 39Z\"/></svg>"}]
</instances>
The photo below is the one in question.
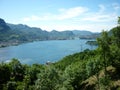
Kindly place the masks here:
<instances>
[{"instance_id":1,"label":"tall green tree cut off by the right edge","mask_svg":"<svg viewBox=\"0 0 120 90\"><path fill-rule=\"evenodd\" d=\"M120 17L118 17L118 26L111 30L112 45L111 45L111 59L112 65L120 68Z\"/></svg>"}]
</instances>

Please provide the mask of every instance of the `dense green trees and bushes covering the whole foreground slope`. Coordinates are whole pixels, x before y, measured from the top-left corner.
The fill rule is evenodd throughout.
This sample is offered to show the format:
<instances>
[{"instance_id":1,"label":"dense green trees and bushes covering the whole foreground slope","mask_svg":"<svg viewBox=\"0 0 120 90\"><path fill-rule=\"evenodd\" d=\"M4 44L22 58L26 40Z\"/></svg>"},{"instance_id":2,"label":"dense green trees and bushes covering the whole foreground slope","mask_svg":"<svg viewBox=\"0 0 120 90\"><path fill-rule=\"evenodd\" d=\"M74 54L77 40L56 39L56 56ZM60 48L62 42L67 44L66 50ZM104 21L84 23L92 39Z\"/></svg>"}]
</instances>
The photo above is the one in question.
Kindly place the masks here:
<instances>
[{"instance_id":1,"label":"dense green trees and bushes covering the whole foreground slope","mask_svg":"<svg viewBox=\"0 0 120 90\"><path fill-rule=\"evenodd\" d=\"M96 50L55 63L0 63L0 90L120 90L120 24L111 32L102 32Z\"/></svg>"}]
</instances>

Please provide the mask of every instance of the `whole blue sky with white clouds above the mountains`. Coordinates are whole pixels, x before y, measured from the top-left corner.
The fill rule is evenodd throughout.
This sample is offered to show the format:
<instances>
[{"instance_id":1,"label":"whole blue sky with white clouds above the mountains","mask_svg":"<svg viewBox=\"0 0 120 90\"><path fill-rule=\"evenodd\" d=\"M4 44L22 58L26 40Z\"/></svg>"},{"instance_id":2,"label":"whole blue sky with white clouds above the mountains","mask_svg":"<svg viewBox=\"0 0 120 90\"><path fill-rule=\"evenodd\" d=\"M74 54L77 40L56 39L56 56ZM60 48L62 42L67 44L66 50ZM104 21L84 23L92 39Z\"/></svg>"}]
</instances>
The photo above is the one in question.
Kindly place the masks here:
<instances>
[{"instance_id":1,"label":"whole blue sky with white clouds above the mountains","mask_svg":"<svg viewBox=\"0 0 120 90\"><path fill-rule=\"evenodd\" d=\"M117 25L120 0L0 0L0 18L43 30L101 32Z\"/></svg>"}]
</instances>

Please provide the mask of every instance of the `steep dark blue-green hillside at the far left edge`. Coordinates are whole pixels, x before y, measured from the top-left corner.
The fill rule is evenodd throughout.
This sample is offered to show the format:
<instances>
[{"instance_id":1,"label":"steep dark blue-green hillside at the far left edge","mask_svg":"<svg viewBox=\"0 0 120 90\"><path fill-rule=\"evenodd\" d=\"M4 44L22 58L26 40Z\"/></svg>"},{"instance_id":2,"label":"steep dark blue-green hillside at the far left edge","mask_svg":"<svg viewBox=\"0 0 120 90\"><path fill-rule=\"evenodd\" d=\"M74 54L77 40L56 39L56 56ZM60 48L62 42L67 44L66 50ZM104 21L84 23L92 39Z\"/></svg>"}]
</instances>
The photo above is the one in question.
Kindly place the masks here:
<instances>
[{"instance_id":1,"label":"steep dark blue-green hillside at the far left edge","mask_svg":"<svg viewBox=\"0 0 120 90\"><path fill-rule=\"evenodd\" d=\"M0 47L14 45L20 41L18 40L20 38L22 37L12 31L3 19L0 19Z\"/></svg>"}]
</instances>

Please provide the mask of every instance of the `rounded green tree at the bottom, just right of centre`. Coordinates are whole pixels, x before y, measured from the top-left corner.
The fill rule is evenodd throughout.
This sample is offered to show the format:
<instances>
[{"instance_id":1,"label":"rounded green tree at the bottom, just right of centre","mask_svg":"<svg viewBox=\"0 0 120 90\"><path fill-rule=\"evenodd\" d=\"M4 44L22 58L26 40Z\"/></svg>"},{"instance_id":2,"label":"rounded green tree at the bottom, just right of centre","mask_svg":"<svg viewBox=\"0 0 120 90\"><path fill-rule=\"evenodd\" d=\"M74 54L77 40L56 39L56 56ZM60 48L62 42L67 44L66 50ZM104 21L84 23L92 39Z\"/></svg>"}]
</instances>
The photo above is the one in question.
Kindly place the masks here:
<instances>
[{"instance_id":1,"label":"rounded green tree at the bottom, just right of centre","mask_svg":"<svg viewBox=\"0 0 120 90\"><path fill-rule=\"evenodd\" d=\"M64 87L67 90L80 90L81 82L87 78L85 62L75 62L65 69Z\"/></svg>"}]
</instances>

